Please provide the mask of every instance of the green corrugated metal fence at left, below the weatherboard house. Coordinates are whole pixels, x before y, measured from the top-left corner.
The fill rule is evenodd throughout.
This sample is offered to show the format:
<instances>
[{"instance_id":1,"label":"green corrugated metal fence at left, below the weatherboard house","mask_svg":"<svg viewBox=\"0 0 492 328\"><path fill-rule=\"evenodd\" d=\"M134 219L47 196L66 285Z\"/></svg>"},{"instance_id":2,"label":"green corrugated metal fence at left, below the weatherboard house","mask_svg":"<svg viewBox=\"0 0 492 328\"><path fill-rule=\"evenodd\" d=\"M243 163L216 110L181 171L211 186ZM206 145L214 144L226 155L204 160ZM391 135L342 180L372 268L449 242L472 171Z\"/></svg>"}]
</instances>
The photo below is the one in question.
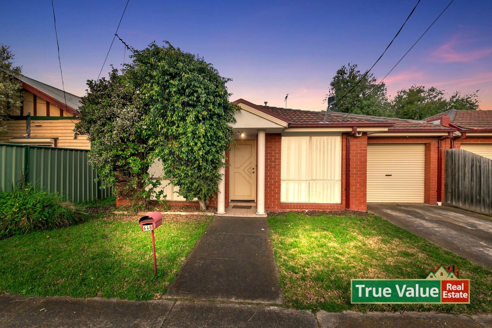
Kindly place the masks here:
<instances>
[{"instance_id":1,"label":"green corrugated metal fence at left, below the weatherboard house","mask_svg":"<svg viewBox=\"0 0 492 328\"><path fill-rule=\"evenodd\" d=\"M97 172L88 163L86 149L0 143L0 192L12 189L24 173L26 182L59 192L71 202L105 199L110 188L95 182Z\"/></svg>"}]
</instances>

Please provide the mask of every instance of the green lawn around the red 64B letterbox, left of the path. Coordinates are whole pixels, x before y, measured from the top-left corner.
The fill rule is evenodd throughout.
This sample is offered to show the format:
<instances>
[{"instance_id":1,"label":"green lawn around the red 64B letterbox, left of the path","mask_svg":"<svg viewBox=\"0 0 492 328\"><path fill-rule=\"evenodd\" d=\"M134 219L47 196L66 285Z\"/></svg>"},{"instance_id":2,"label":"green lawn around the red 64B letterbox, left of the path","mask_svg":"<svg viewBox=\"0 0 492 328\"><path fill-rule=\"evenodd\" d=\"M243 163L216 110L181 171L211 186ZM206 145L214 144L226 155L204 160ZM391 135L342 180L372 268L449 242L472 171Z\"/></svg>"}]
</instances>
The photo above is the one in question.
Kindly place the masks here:
<instances>
[{"instance_id":1,"label":"green lawn around the red 64B letterbox, left of the path","mask_svg":"<svg viewBox=\"0 0 492 328\"><path fill-rule=\"evenodd\" d=\"M0 292L148 300L166 293L211 216L165 216L150 232L117 215L0 240ZM48 239L46 236L50 236Z\"/></svg>"}]
</instances>

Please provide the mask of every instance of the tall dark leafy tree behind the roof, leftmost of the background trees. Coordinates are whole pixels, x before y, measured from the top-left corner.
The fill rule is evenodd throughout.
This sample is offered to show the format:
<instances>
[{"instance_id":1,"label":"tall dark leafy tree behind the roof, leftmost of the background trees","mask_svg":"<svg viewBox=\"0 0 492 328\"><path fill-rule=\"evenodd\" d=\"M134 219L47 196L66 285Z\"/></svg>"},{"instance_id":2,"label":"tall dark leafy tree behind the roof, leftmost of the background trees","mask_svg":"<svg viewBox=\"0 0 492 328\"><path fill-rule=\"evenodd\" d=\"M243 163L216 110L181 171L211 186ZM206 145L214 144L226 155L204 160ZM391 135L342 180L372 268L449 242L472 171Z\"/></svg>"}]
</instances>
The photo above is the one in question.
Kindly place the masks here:
<instances>
[{"instance_id":1,"label":"tall dark leafy tree behind the roof, leftmost of the background trees","mask_svg":"<svg viewBox=\"0 0 492 328\"><path fill-rule=\"evenodd\" d=\"M377 84L377 79L372 73L363 77L364 74L365 72L357 68L357 64L348 63L347 66L343 65L338 69L328 93L328 96L335 96L336 100L330 107L331 111L384 117L390 115L386 85ZM357 84L359 80L361 82ZM356 84L357 86L347 93Z\"/></svg>"}]
</instances>

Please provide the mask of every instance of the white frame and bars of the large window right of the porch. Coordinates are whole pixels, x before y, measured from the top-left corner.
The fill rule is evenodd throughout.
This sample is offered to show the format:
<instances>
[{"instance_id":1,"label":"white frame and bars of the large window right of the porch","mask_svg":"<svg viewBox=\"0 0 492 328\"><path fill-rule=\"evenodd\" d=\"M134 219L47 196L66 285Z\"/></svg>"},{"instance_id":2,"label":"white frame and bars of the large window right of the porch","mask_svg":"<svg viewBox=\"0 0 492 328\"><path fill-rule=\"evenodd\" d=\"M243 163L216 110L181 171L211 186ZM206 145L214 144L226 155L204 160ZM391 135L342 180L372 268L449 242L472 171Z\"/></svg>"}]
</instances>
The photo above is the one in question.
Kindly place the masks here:
<instances>
[{"instance_id":1,"label":"white frame and bars of the large window right of the porch","mask_svg":"<svg viewBox=\"0 0 492 328\"><path fill-rule=\"evenodd\" d=\"M285 172L284 172L284 166L281 164L281 173L280 173L280 202L281 203L309 203L309 204L341 204L341 171L342 171L342 167L341 167L341 160L342 160L342 151L341 151L341 135L299 135L299 136L282 136L282 139L283 138L298 138L298 137L309 137L309 143L308 143L308 151L307 151L307 160L308 160L308 164L307 164L307 175L309 179L286 179L285 178ZM335 161L338 161L338 179L312 179L313 177L313 162L312 162L312 157L313 157L313 146L312 146L312 138L313 137L337 137L338 138L338 149L339 151L337 152L337 157L335 159ZM283 143L282 143L282 146L283 146ZM281 149L281 153L284 154L284 151L286 149ZM284 160L284 158L282 158L282 161ZM328 160L327 160L328 162ZM333 163L334 165L337 165L336 162ZM338 183L339 187L337 188L338 189L338 195L336 195L335 198L338 198L338 201L335 201L335 202L328 202L328 201L322 201L322 202L312 202L311 201L311 186L313 184L313 182L324 182L324 181L331 181L331 182L335 182L335 183ZM307 182L307 187L306 187L306 193L307 193L307 200L301 200L301 201L293 201L293 200L288 200L288 199L285 199L286 195L284 195L284 183L285 182Z\"/></svg>"}]
</instances>

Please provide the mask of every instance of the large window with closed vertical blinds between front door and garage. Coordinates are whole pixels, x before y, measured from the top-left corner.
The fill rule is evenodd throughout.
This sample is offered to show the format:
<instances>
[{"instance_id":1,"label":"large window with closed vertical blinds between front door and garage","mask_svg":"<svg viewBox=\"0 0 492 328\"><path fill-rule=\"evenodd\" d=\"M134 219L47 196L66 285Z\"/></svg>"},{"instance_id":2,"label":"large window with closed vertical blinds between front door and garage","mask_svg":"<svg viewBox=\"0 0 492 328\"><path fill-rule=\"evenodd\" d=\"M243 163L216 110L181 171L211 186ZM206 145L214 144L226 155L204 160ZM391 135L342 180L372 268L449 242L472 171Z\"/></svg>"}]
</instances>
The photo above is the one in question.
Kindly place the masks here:
<instances>
[{"instance_id":1,"label":"large window with closed vertical blinds between front door and garage","mask_svg":"<svg viewBox=\"0 0 492 328\"><path fill-rule=\"evenodd\" d=\"M341 202L341 136L282 137L280 201Z\"/></svg>"}]
</instances>

